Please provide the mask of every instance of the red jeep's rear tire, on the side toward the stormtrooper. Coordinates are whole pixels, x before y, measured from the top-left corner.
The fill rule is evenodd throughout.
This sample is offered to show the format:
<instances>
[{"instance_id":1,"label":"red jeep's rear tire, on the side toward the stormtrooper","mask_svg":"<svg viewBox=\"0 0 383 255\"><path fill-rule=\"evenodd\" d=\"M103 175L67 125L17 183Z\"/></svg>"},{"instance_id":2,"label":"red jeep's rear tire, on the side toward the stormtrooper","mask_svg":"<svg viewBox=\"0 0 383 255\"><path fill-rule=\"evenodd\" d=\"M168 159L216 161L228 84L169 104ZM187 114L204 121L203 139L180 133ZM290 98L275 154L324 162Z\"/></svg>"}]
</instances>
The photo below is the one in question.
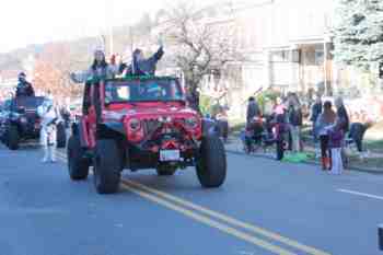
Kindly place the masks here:
<instances>
[{"instance_id":1,"label":"red jeep's rear tire, on the side toward the stormtrooper","mask_svg":"<svg viewBox=\"0 0 383 255\"><path fill-rule=\"evenodd\" d=\"M69 176L73 181L85 179L89 174L89 160L84 159L78 136L71 136L67 148Z\"/></svg>"}]
</instances>

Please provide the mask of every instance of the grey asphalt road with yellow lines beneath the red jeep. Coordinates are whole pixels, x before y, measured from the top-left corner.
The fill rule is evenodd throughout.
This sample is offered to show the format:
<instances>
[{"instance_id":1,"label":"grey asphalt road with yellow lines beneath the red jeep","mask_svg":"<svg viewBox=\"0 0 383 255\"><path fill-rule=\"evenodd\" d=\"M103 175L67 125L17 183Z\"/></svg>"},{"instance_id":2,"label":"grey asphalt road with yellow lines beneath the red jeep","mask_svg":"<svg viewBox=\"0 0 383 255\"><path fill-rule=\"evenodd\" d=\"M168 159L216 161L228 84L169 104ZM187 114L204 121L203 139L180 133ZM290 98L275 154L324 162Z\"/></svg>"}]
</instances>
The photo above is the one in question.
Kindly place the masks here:
<instances>
[{"instance_id":1,"label":"grey asphalt road with yellow lines beneath the red jeep","mask_svg":"<svg viewBox=\"0 0 383 255\"><path fill-rule=\"evenodd\" d=\"M144 171L101 196L39 160L0 147L0 255L383 254L383 176L228 154L219 189Z\"/></svg>"}]
</instances>

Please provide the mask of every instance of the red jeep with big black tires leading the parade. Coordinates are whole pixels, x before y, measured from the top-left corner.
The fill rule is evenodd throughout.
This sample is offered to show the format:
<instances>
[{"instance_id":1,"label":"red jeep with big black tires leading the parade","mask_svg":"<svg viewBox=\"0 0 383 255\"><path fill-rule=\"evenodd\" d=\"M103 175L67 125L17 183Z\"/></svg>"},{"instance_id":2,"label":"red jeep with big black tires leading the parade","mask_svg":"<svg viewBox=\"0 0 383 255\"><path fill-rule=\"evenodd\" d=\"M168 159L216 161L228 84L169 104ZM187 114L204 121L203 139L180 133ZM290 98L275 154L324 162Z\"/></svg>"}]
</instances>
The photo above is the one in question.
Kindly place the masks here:
<instances>
[{"instance_id":1,"label":"red jeep with big black tires leading the parade","mask_svg":"<svg viewBox=\"0 0 383 255\"><path fill-rule=\"evenodd\" d=\"M82 112L68 143L69 175L84 179L93 165L100 194L118 190L124 169L155 169L158 175L173 175L178 169L196 166L204 187L219 187L225 179L223 144L204 131L204 120L187 107L175 78L88 82Z\"/></svg>"}]
</instances>

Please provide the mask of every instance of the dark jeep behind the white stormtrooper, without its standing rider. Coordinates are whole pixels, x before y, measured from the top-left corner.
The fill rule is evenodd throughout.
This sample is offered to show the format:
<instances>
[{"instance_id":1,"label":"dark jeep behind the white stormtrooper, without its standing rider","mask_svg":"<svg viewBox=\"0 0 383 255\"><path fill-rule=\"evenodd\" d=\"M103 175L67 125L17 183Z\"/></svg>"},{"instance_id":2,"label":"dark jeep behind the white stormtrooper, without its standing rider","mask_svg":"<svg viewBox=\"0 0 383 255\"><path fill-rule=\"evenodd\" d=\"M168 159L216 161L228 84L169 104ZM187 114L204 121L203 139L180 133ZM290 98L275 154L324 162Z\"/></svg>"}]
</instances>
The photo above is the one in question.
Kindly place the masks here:
<instances>
[{"instance_id":1,"label":"dark jeep behind the white stormtrooper, without its standing rider","mask_svg":"<svg viewBox=\"0 0 383 255\"><path fill-rule=\"evenodd\" d=\"M21 142L39 139L42 119L37 107L44 96L18 96L5 103L0 119L1 141L11 150L18 150ZM66 147L67 135L62 123L57 126L57 147Z\"/></svg>"}]
</instances>

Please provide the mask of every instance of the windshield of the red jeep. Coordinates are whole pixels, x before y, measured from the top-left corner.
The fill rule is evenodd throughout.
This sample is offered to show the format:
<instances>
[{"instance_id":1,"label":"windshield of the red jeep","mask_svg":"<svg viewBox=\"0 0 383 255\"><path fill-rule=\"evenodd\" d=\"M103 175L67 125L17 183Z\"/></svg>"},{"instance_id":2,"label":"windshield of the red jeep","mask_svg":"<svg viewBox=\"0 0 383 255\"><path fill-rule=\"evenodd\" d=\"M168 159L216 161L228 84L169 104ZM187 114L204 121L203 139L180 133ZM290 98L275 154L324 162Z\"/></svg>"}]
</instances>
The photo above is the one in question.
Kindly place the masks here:
<instances>
[{"instance_id":1,"label":"windshield of the red jeep","mask_svg":"<svg viewBox=\"0 0 383 255\"><path fill-rule=\"evenodd\" d=\"M105 103L185 101L176 80L108 81Z\"/></svg>"}]
</instances>

